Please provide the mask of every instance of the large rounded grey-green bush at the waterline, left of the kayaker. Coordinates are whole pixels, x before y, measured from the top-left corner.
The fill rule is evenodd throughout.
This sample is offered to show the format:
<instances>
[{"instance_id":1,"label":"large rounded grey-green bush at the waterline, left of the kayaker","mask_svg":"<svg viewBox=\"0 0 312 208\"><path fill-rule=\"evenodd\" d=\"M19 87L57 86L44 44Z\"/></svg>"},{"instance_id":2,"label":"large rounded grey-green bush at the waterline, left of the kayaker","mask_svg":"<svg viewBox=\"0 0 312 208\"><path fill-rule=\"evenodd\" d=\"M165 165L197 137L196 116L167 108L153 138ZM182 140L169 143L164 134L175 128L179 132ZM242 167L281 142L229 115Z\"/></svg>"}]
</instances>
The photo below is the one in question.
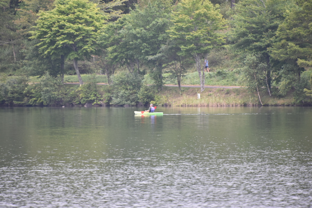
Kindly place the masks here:
<instances>
[{"instance_id":1,"label":"large rounded grey-green bush at the waterline, left of the kayaker","mask_svg":"<svg viewBox=\"0 0 312 208\"><path fill-rule=\"evenodd\" d=\"M143 76L135 73L119 73L114 76L113 92L110 104L136 105L139 102L138 92L142 86Z\"/></svg>"}]
</instances>

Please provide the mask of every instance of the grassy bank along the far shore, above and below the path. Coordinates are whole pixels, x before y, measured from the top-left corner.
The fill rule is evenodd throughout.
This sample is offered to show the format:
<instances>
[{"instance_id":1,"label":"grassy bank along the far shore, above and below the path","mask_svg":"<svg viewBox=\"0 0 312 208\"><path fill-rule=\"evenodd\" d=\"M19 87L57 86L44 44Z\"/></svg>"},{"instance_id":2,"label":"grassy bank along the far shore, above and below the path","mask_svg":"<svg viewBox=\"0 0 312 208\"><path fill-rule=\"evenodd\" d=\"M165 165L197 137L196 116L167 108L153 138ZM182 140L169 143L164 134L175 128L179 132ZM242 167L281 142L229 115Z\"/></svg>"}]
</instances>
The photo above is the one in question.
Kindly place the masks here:
<instances>
[{"instance_id":1,"label":"grassy bank along the far shore, above and below the path","mask_svg":"<svg viewBox=\"0 0 312 208\"><path fill-rule=\"evenodd\" d=\"M84 83L107 83L106 75L81 75ZM167 85L176 85L175 80L168 80L168 74L164 74L164 84ZM64 77L65 82L73 83L78 82L76 75L66 75ZM37 83L40 81L38 77L30 77L29 82ZM144 84L152 85L153 82L150 79L149 75L144 76L143 80ZM186 77L182 80L182 85L199 85L199 78L197 72L189 72ZM206 82L205 85L215 85L215 86L240 86L243 85L241 81L240 74L236 71L212 71L210 73L206 73ZM80 93L80 97L90 96L90 93L87 91L83 91L85 89L79 89L79 85L66 85L65 92L68 91L76 91L76 93ZM110 94L111 89L109 85L97 85L97 90L101 94L101 96L105 98ZM28 89L28 88L27 88ZM29 89L28 89L29 90ZM78 90L78 91L77 91ZM82 91L81 91L82 90ZM294 91L290 91L286 96L276 97L269 96L267 92L263 92L261 94L261 101L263 105L273 106L273 105L303 105L298 104L294 101ZM21 92L22 93L22 92ZM27 92L32 93L32 91ZM27 94L26 93L26 94ZM197 98L197 94L200 93L200 99ZM66 93L65 93L66 94ZM82 95L81 95L82 94ZM200 91L200 87L183 87L182 91L178 89L178 87L169 87L163 86L163 90L156 94L155 100L153 103L157 105L168 105L168 106L258 106L261 105L259 102L258 95L256 92L254 94L250 94L247 92L246 88L205 88L203 92ZM30 96L30 95L27 95ZM40 94L37 96L40 99ZM63 95L60 95L63 96ZM71 95L73 96L73 95ZM1 96L0 96L1 99ZM68 99L68 98L66 98ZM66 100L62 99L62 100ZM23 101L20 101L21 103ZM311 102L310 102L311 103ZM309 103L305 103L309 105Z\"/></svg>"}]
</instances>

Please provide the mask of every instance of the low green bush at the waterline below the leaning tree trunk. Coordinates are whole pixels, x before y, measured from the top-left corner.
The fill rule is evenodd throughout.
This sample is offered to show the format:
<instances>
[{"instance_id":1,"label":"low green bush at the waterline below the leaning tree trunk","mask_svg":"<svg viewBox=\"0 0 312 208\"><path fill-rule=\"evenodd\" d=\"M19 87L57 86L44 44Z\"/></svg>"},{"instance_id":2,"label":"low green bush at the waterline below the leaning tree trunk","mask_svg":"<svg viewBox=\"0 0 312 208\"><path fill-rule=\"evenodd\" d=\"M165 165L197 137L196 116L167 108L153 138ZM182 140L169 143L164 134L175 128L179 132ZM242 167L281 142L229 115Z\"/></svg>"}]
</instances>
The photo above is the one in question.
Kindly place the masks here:
<instances>
[{"instance_id":1,"label":"low green bush at the waterline below the leaning tree trunk","mask_svg":"<svg viewBox=\"0 0 312 208\"><path fill-rule=\"evenodd\" d=\"M92 105L101 104L103 101L102 95L98 92L95 83L89 83L81 85L78 89L73 90L69 93L68 101L71 101L77 105L83 105L91 102ZM67 101L67 102L68 102Z\"/></svg>"}]
</instances>

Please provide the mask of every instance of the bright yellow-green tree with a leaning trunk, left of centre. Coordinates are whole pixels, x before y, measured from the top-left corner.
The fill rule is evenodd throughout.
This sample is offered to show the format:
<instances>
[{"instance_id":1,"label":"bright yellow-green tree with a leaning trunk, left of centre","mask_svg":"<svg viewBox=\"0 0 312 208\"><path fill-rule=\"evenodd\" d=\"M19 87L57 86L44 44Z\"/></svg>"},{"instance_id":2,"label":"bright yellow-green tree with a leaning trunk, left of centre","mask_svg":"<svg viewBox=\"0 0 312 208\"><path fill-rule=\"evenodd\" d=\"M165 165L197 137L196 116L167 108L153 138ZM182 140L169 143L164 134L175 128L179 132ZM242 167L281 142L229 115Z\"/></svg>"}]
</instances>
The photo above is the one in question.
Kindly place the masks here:
<instances>
[{"instance_id":1,"label":"bright yellow-green tree with a leaning trunk, left of centre","mask_svg":"<svg viewBox=\"0 0 312 208\"><path fill-rule=\"evenodd\" d=\"M54 4L54 9L39 12L31 38L41 40L37 46L44 56L73 60L82 85L78 60L96 54L96 37L107 18L88 0L56 0Z\"/></svg>"}]
</instances>

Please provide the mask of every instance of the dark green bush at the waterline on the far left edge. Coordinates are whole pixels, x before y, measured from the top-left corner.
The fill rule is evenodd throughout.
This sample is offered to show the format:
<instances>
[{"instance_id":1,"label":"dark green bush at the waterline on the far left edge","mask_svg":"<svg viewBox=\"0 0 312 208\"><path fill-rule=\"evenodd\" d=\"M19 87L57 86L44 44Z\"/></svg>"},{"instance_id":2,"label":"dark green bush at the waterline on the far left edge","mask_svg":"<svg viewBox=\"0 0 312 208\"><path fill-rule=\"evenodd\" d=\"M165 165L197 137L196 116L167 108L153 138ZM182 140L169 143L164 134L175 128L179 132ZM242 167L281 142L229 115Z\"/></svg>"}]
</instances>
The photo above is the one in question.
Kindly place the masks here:
<instances>
[{"instance_id":1,"label":"dark green bush at the waterline on the far left edge","mask_svg":"<svg viewBox=\"0 0 312 208\"><path fill-rule=\"evenodd\" d=\"M0 83L0 101L13 105L24 104L24 92L28 86L28 78L26 77L12 77L8 78L5 82Z\"/></svg>"}]
</instances>

